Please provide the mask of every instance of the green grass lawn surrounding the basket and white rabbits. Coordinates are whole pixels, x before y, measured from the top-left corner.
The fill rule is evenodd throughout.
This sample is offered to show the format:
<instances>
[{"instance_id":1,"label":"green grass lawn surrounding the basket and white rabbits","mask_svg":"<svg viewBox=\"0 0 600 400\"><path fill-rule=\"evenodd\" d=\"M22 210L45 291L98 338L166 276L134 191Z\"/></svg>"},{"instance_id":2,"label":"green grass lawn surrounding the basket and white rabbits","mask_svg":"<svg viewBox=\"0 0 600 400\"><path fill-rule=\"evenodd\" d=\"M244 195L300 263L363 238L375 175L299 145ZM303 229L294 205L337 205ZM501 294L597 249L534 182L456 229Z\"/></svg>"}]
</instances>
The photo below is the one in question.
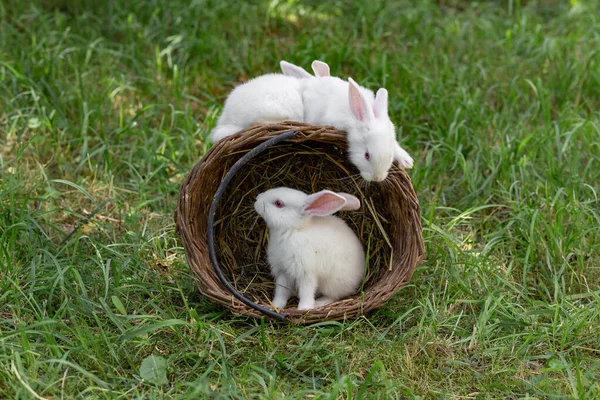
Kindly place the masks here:
<instances>
[{"instance_id":1,"label":"green grass lawn surrounding the basket and white rabbits","mask_svg":"<svg viewBox=\"0 0 600 400\"><path fill-rule=\"evenodd\" d=\"M600 398L598 2L320 3L0 3L0 398ZM427 259L365 318L235 317L177 190L237 82L315 58L389 89Z\"/></svg>"}]
</instances>

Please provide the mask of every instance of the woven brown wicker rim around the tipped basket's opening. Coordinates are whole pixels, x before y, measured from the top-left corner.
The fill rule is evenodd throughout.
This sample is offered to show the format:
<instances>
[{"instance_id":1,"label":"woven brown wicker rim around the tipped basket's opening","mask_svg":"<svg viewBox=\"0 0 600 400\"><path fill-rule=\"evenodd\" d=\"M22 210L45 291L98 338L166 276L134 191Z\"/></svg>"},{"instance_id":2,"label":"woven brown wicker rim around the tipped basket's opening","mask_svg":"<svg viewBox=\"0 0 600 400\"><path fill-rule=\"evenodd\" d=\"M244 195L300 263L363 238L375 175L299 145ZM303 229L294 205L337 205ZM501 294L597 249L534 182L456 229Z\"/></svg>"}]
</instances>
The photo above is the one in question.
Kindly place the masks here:
<instances>
[{"instance_id":1,"label":"woven brown wicker rim around the tipped basket's opening","mask_svg":"<svg viewBox=\"0 0 600 400\"><path fill-rule=\"evenodd\" d=\"M286 139L286 142L319 142L346 149L346 134L333 127L298 122L257 125L216 143L182 184L175 221L196 286L211 301L227 307L236 314L252 317L266 314L271 318L285 319L293 323L314 323L364 315L382 306L397 290L406 285L425 254L419 203L409 176L397 164L393 165L393 173L386 180L386 198L397 201L382 205L387 218L393 221L391 232L388 232L392 241L392 266L364 292L318 309L286 309L284 313L278 314L268 305L258 305L249 299L245 301L244 296L236 294L237 291L228 285L226 278L219 274L220 268L214 247L211 250L214 238L208 224L211 206L212 212L216 212L220 197L217 196L219 187L224 189L228 183L223 182L223 178L240 158L256 146L290 130L294 131L295 135ZM241 168L240 173L243 173L243 165L239 165L238 168ZM222 183L224 185L221 185Z\"/></svg>"}]
</instances>

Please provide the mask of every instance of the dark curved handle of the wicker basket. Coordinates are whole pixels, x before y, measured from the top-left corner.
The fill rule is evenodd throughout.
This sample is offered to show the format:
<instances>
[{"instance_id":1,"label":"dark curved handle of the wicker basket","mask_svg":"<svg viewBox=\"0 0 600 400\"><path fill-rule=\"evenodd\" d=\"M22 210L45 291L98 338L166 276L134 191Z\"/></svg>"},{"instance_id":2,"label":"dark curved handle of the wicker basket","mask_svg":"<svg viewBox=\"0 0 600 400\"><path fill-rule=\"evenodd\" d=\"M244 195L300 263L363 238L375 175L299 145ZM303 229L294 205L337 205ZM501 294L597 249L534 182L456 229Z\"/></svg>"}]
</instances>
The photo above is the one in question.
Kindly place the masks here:
<instances>
[{"instance_id":1,"label":"dark curved handle of the wicker basket","mask_svg":"<svg viewBox=\"0 0 600 400\"><path fill-rule=\"evenodd\" d=\"M237 160L235 164L233 164L231 169L229 169L229 171L227 171L227 174L225 174L225 178L223 178L223 180L221 181L221 184L217 188L217 191L213 197L213 202L210 205L210 210L208 211L208 222L207 222L208 229L206 230L207 231L207 241L208 241L208 256L210 258L210 262L212 263L213 268L215 269L215 272L217 273L217 276L219 277L219 280L221 281L221 283L227 288L227 290L229 290L229 292L235 298L237 298L239 301L241 301L248 307L252 307L255 310L260 311L261 313L268 315L271 318L275 318L279 321L285 321L287 319L287 315L279 314L273 310L269 310L268 308L259 306L258 304L254 303L252 300L248 299L243 294L241 294L240 292L235 290L235 288L231 285L231 283L229 283L227 281L227 279L225 278L225 275L223 275L223 271L221 271L221 267L219 266L219 262L217 261L217 253L215 251L215 238L214 238L215 226L214 226L214 223L215 223L215 214L217 213L217 207L219 206L221 197L223 197L223 193L225 192L227 185L229 185L229 183L231 182L231 180L233 179L235 174L237 174L237 172L241 168L243 168L244 165L246 165L246 163L248 161L250 161L257 155L259 155L260 153L262 153L269 147L274 146L283 141L286 141L288 139L291 139L291 138L295 137L296 134L297 133L295 131L287 131L287 132L282 133L281 135L275 136L274 138L271 138L271 139L259 144L258 146L256 146L252 150L250 150L248 153L246 153L242 158Z\"/></svg>"}]
</instances>

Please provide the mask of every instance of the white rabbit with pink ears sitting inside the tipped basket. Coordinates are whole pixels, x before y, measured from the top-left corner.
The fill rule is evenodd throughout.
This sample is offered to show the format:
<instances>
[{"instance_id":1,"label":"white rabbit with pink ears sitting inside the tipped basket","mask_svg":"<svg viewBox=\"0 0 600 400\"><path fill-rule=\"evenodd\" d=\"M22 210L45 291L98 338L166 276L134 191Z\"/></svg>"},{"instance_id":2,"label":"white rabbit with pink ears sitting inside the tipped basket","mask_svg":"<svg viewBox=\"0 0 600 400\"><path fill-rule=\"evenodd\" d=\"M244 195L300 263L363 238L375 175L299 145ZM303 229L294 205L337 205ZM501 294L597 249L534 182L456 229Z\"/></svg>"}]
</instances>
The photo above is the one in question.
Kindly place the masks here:
<instances>
[{"instance_id":1,"label":"white rabbit with pink ears sitting inside the tipped basket","mask_svg":"<svg viewBox=\"0 0 600 400\"><path fill-rule=\"evenodd\" d=\"M331 214L359 207L356 197L329 190L307 195L282 187L258 195L254 208L269 228L267 258L275 278L276 308L285 308L293 293L299 310L356 293L365 269L363 246ZM321 297L315 300L317 294Z\"/></svg>"}]
</instances>

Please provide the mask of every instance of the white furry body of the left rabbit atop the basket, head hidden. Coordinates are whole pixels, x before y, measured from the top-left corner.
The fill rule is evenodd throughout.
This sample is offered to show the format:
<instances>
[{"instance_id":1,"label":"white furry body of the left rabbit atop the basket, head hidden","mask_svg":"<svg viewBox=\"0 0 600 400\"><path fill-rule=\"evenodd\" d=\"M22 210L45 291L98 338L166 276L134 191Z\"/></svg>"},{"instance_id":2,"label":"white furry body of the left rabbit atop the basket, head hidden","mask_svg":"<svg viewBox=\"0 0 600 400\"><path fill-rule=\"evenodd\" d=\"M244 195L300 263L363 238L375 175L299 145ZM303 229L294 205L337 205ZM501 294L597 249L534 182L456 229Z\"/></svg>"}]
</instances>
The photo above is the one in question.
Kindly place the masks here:
<instances>
[{"instance_id":1,"label":"white furry body of the left rabbit atop the basket, head hidden","mask_svg":"<svg viewBox=\"0 0 600 400\"><path fill-rule=\"evenodd\" d=\"M229 94L210 140L216 143L256 124L303 119L300 80L282 74L261 75Z\"/></svg>"}]
</instances>

